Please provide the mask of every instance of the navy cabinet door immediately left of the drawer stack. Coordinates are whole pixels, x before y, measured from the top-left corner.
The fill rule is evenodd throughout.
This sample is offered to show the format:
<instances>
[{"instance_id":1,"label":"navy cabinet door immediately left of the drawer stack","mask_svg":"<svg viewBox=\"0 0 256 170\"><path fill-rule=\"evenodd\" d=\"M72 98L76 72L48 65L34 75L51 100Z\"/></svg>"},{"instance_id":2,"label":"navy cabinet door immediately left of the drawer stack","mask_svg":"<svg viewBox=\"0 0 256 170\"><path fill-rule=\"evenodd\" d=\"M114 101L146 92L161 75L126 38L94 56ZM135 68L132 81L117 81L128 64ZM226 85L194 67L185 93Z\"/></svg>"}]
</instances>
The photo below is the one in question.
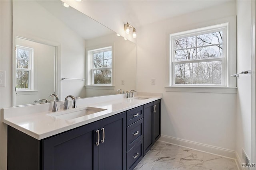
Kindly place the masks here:
<instances>
[{"instance_id":1,"label":"navy cabinet door immediately left of the drawer stack","mask_svg":"<svg viewBox=\"0 0 256 170\"><path fill-rule=\"evenodd\" d=\"M99 123L100 170L125 170L126 112L102 119Z\"/></svg>"}]
</instances>

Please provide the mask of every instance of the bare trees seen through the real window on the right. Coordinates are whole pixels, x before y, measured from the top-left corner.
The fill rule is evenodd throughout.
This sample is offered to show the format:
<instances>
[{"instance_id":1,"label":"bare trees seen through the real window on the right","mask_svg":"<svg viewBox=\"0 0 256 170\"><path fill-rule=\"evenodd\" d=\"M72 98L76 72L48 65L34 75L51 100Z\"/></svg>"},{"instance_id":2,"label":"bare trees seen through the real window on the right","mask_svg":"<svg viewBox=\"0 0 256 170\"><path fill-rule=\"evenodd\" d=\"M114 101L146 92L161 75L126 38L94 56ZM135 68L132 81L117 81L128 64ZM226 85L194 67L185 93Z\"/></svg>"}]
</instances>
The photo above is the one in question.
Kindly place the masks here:
<instances>
[{"instance_id":1,"label":"bare trees seen through the real window on the right","mask_svg":"<svg viewBox=\"0 0 256 170\"><path fill-rule=\"evenodd\" d=\"M174 39L175 84L222 84L223 31Z\"/></svg>"}]
</instances>

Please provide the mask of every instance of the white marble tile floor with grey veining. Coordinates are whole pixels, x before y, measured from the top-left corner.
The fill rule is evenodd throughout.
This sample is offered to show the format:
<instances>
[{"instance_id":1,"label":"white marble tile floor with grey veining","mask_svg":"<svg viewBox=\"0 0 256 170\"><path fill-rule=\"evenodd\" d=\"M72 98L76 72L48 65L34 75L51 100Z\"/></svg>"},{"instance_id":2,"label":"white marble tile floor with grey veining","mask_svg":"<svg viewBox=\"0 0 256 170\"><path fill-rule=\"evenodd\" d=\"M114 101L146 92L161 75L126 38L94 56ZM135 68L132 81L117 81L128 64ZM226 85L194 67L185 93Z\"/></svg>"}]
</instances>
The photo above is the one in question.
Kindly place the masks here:
<instances>
[{"instance_id":1,"label":"white marble tile floor with grey veining","mask_svg":"<svg viewBox=\"0 0 256 170\"><path fill-rule=\"evenodd\" d=\"M239 170L234 159L157 141L134 170Z\"/></svg>"}]
</instances>

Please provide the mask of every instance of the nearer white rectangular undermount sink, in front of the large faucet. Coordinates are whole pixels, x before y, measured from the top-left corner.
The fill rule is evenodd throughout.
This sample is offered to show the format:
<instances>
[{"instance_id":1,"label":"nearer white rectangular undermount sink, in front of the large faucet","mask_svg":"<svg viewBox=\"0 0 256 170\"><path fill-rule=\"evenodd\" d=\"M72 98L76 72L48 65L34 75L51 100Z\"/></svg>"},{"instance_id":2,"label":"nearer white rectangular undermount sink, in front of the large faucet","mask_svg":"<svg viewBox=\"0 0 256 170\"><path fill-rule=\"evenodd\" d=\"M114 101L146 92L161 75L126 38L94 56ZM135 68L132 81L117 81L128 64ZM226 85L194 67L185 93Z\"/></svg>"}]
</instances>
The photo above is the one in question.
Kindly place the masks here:
<instances>
[{"instance_id":1,"label":"nearer white rectangular undermount sink, in front of the large faucet","mask_svg":"<svg viewBox=\"0 0 256 170\"><path fill-rule=\"evenodd\" d=\"M70 119L75 119L78 117L90 115L90 114L97 113L104 110L106 109L97 108L97 107L85 107L84 109L80 109L77 111L75 109L69 110L68 113L66 113L66 111L62 111L62 113L59 113L59 114L57 112L57 113L50 113L48 115L59 118L59 119L70 120Z\"/></svg>"}]
</instances>

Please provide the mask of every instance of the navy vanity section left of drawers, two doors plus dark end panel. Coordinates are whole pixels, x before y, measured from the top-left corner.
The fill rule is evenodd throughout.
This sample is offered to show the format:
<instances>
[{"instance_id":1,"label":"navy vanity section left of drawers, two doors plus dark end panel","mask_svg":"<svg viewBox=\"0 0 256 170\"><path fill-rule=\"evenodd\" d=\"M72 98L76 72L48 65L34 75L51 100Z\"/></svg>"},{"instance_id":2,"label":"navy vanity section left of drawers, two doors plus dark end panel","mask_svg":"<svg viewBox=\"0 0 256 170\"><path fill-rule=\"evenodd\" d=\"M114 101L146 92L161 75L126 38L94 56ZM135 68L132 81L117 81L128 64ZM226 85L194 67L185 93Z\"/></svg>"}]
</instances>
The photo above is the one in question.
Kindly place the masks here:
<instances>
[{"instance_id":1,"label":"navy vanity section left of drawers, two doors plus dark end panel","mask_svg":"<svg viewBox=\"0 0 256 170\"><path fill-rule=\"evenodd\" d=\"M40 141L8 126L8 170L110 169L126 169L126 112Z\"/></svg>"}]
</instances>

